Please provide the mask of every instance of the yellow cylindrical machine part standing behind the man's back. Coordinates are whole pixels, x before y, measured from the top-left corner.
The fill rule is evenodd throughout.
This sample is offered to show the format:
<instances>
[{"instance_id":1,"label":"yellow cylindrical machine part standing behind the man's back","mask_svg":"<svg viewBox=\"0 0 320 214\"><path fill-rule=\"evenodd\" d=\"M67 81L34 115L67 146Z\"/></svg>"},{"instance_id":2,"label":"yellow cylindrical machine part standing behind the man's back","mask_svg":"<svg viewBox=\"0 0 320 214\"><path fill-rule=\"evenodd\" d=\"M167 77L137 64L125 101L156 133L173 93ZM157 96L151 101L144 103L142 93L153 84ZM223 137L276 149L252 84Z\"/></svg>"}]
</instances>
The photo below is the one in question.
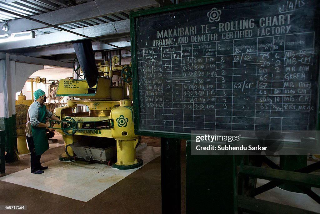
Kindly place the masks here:
<instances>
[{"instance_id":1,"label":"yellow cylindrical machine part standing behind the man's back","mask_svg":"<svg viewBox=\"0 0 320 214\"><path fill-rule=\"evenodd\" d=\"M29 150L26 143L26 123L27 113L31 100L26 100L26 96L20 93L16 100L16 123L17 123L17 145L19 154L27 154Z\"/></svg>"}]
</instances>

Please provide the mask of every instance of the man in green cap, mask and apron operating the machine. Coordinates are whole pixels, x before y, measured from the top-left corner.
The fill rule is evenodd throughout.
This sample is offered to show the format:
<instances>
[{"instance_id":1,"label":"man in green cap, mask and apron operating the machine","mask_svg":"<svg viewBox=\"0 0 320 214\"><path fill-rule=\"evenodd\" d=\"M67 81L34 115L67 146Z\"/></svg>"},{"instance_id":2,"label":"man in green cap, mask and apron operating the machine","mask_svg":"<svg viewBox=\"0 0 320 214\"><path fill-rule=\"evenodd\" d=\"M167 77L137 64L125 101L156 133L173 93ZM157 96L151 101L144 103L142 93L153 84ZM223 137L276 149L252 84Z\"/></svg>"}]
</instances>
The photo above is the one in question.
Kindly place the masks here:
<instances>
[{"instance_id":1,"label":"man in green cap, mask and apron operating the machine","mask_svg":"<svg viewBox=\"0 0 320 214\"><path fill-rule=\"evenodd\" d=\"M28 109L29 124L27 124L26 136L30 150L31 173L42 174L44 173L44 169L48 169L47 166L41 166L40 163L41 155L49 149L46 131L48 125L45 122L46 118L57 121L61 120L54 116L52 112L47 110L46 106L43 104L47 100L43 90L38 89L33 93L33 95L35 97L35 102L32 103ZM30 131L27 131L28 125L31 125Z\"/></svg>"}]
</instances>

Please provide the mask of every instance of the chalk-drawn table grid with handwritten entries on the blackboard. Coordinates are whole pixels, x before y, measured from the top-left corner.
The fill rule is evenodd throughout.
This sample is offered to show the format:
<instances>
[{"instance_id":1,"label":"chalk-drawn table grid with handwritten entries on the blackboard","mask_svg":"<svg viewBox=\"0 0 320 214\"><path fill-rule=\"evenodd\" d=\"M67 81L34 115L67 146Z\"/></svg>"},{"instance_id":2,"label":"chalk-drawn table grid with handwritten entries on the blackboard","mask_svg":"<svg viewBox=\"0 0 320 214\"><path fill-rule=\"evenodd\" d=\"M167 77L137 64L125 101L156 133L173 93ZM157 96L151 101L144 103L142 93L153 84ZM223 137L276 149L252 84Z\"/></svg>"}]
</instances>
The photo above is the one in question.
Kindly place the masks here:
<instances>
[{"instance_id":1,"label":"chalk-drawn table grid with handwritten entries on the blackboard","mask_svg":"<svg viewBox=\"0 0 320 214\"><path fill-rule=\"evenodd\" d=\"M314 35L138 49L141 129L308 130Z\"/></svg>"}]
</instances>

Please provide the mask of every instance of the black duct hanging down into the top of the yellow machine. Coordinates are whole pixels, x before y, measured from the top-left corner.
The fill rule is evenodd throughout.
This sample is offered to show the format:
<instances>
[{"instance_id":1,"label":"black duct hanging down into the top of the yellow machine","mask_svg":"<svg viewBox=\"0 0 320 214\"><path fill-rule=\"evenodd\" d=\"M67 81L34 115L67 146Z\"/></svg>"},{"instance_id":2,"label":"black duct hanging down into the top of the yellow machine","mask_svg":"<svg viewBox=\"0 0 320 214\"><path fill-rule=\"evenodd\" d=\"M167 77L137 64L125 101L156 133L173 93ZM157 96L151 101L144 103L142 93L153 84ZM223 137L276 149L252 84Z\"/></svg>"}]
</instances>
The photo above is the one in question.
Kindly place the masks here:
<instances>
[{"instance_id":1,"label":"black duct hanging down into the top of the yellow machine","mask_svg":"<svg viewBox=\"0 0 320 214\"><path fill-rule=\"evenodd\" d=\"M90 39L73 42L79 65L90 88L97 84L99 77Z\"/></svg>"}]
</instances>

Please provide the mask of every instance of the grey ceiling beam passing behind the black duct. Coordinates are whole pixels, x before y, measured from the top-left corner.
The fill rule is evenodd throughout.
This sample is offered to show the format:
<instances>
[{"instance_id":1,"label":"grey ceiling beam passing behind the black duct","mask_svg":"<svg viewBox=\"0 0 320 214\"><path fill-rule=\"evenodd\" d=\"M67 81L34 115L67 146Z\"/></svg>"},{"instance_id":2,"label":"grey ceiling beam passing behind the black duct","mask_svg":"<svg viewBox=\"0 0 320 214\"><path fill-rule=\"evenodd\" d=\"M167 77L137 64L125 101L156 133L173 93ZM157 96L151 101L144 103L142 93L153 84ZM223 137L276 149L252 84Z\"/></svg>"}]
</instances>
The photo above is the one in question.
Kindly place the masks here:
<instances>
[{"instance_id":1,"label":"grey ceiling beam passing behind the black duct","mask_svg":"<svg viewBox=\"0 0 320 214\"><path fill-rule=\"evenodd\" d=\"M116 45L119 47L130 47L130 38L121 38L119 41L110 42L112 45ZM115 49L115 47L103 44L100 42L92 41L92 50L98 51L98 50L112 50ZM30 48L27 50L17 50L16 53L23 54L25 56L50 56L50 55L57 55L57 54L74 54L75 49L73 48L73 45L67 44L67 45L55 45L55 46L49 46L49 47L39 47L39 48Z\"/></svg>"}]
</instances>

